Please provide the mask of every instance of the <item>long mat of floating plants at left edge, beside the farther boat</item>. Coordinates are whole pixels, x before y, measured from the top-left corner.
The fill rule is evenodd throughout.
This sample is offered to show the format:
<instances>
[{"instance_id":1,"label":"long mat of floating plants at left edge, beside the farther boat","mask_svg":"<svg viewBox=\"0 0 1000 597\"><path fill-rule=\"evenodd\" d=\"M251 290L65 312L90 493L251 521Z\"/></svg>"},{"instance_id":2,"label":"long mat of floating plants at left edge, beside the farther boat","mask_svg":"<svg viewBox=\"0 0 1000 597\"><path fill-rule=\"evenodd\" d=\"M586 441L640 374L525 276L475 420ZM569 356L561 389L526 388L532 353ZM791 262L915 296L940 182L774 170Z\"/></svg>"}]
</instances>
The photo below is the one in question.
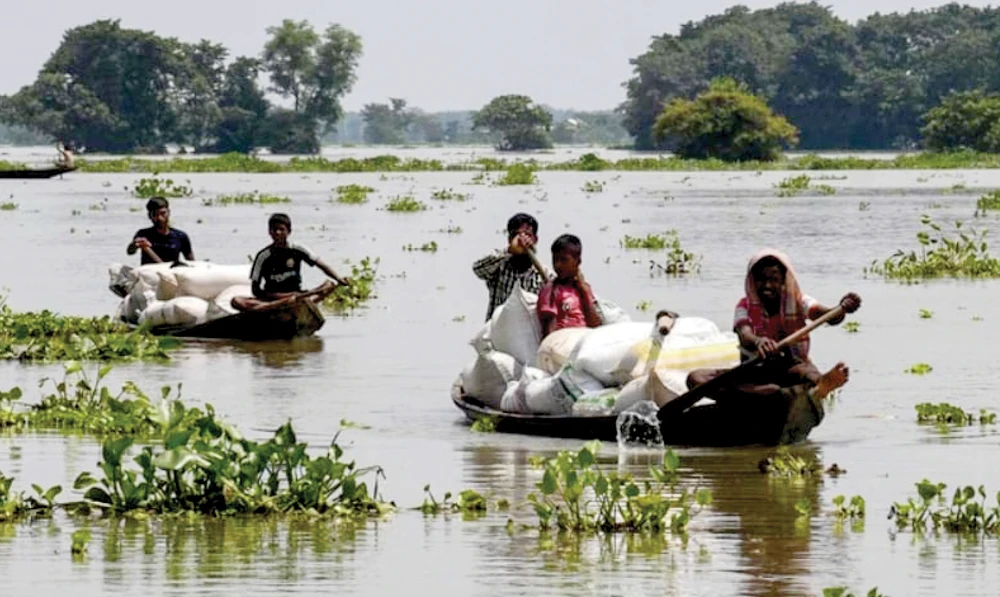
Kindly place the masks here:
<instances>
[{"instance_id":1,"label":"long mat of floating plants at left edge, beside the farther boat","mask_svg":"<svg viewBox=\"0 0 1000 597\"><path fill-rule=\"evenodd\" d=\"M131 330L110 317L68 317L50 311L15 313L0 299L0 359L131 361L166 359L175 338Z\"/></svg>"}]
</instances>

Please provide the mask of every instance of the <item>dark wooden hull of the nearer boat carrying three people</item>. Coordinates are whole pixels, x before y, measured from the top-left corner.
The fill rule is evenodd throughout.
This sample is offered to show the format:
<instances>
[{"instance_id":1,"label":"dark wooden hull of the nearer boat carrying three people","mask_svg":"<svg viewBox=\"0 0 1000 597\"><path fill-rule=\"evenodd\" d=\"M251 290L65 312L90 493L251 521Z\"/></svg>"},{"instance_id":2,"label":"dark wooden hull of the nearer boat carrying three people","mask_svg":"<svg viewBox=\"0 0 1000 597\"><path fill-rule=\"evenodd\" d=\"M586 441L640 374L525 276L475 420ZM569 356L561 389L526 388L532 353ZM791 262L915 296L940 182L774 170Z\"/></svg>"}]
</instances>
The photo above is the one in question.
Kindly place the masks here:
<instances>
[{"instance_id":1,"label":"dark wooden hull of the nearer boat carrying three people","mask_svg":"<svg viewBox=\"0 0 1000 597\"><path fill-rule=\"evenodd\" d=\"M452 386L452 402L470 421L493 419L498 432L566 439L617 441L617 416L533 415L490 408ZM699 403L660 421L663 442L671 446L777 446L804 441L823 420L823 405L804 393L778 394L752 404ZM634 438L633 438L634 439Z\"/></svg>"}]
</instances>

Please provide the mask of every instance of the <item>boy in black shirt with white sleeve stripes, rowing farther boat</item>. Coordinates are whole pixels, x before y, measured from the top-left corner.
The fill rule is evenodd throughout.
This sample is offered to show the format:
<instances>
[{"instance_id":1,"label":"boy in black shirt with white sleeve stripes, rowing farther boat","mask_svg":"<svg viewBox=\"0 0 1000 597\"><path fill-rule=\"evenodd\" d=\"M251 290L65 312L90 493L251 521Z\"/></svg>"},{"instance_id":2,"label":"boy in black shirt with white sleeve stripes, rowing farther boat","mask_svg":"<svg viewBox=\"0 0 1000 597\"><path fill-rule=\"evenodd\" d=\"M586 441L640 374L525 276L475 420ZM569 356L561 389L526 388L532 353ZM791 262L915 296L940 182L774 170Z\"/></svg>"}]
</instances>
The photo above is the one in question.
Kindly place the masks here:
<instances>
[{"instance_id":1,"label":"boy in black shirt with white sleeve stripes, rowing farther boat","mask_svg":"<svg viewBox=\"0 0 1000 597\"><path fill-rule=\"evenodd\" d=\"M240 310L253 309L281 299L290 299L302 294L302 263L318 267L338 284L350 286L350 278L341 277L304 245L289 242L292 233L292 219L286 214L274 214L267 221L267 229L274 241L264 247L253 260L250 270L250 286L254 298L237 297L233 307ZM326 281L316 291L333 290Z\"/></svg>"}]
</instances>

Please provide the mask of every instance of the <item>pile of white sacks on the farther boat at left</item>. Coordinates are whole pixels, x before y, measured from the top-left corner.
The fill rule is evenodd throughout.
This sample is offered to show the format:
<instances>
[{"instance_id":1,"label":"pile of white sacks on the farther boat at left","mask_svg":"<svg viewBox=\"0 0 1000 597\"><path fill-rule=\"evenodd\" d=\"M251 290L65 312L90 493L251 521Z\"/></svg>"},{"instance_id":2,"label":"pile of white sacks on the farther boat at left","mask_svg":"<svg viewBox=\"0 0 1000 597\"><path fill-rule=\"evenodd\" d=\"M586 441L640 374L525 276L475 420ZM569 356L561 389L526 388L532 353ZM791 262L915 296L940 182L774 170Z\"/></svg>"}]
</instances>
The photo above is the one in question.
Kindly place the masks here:
<instances>
[{"instance_id":1,"label":"pile of white sacks on the farther boat at left","mask_svg":"<svg viewBox=\"0 0 1000 597\"><path fill-rule=\"evenodd\" d=\"M232 299L252 296L250 265L191 261L175 266L155 263L136 268L112 265L112 291L126 294L118 316L128 323L189 326L235 312Z\"/></svg>"}]
</instances>

